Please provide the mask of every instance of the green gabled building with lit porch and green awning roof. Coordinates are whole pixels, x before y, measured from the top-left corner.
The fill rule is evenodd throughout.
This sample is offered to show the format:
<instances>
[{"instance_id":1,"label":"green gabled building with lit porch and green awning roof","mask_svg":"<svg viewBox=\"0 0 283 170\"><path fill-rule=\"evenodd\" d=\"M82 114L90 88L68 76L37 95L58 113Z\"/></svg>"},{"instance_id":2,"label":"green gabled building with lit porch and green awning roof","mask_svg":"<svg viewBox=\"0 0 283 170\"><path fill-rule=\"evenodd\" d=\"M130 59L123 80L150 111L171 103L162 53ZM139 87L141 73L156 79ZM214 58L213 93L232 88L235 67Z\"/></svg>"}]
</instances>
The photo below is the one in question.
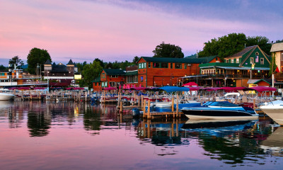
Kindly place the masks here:
<instances>
[{"instance_id":1,"label":"green gabled building with lit porch and green awning roof","mask_svg":"<svg viewBox=\"0 0 283 170\"><path fill-rule=\"evenodd\" d=\"M198 81L202 86L248 86L249 79L265 79L270 70L270 56L258 45L246 47L224 61L200 64Z\"/></svg>"}]
</instances>

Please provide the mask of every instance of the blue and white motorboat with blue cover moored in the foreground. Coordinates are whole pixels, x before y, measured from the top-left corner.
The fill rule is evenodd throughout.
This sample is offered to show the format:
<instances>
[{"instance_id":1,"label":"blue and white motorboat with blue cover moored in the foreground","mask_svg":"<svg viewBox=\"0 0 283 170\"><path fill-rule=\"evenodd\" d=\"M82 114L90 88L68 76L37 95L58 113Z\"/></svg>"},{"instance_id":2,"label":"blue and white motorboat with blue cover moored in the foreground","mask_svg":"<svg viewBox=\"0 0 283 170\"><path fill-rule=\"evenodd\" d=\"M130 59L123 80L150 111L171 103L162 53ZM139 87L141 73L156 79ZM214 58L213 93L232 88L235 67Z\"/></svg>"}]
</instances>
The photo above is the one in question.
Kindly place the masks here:
<instances>
[{"instance_id":1,"label":"blue and white motorboat with blue cover moored in the foreground","mask_svg":"<svg viewBox=\"0 0 283 170\"><path fill-rule=\"evenodd\" d=\"M187 107L181 111L190 119L258 119L253 108L238 106L228 101L208 101L202 106Z\"/></svg>"}]
</instances>

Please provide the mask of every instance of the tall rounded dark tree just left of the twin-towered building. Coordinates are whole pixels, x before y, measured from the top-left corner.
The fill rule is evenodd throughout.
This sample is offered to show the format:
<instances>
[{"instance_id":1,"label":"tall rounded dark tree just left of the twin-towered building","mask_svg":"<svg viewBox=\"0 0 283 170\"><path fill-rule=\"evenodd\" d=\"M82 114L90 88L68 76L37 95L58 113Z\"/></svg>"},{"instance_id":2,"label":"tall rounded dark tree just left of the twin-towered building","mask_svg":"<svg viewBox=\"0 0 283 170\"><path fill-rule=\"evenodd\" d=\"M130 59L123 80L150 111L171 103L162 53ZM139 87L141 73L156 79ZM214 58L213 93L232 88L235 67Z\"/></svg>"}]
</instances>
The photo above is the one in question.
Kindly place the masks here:
<instances>
[{"instance_id":1,"label":"tall rounded dark tree just left of the twin-towered building","mask_svg":"<svg viewBox=\"0 0 283 170\"><path fill-rule=\"evenodd\" d=\"M47 50L41 50L39 48L33 48L30 50L30 53L28 54L28 72L30 74L36 73L37 64L40 66L47 61L50 60L52 62L51 57ZM43 69L43 67L42 67Z\"/></svg>"}]
</instances>

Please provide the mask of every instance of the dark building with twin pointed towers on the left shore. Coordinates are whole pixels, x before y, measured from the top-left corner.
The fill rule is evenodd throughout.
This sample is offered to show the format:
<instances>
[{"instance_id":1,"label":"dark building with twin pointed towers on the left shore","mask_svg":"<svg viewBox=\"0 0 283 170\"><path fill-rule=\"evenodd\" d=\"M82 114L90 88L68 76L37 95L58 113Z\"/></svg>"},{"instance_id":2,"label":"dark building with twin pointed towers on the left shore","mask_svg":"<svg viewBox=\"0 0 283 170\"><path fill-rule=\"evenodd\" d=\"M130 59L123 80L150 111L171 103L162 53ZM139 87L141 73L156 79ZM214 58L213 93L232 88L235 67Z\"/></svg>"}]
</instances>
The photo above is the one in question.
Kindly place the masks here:
<instances>
[{"instance_id":1,"label":"dark building with twin pointed towers on the left shore","mask_svg":"<svg viewBox=\"0 0 283 170\"><path fill-rule=\"evenodd\" d=\"M51 64L50 60L47 60L44 64L44 79L49 80L50 87L62 87L70 86L75 83L74 73L77 72L75 64L69 60L67 65Z\"/></svg>"}]
</instances>

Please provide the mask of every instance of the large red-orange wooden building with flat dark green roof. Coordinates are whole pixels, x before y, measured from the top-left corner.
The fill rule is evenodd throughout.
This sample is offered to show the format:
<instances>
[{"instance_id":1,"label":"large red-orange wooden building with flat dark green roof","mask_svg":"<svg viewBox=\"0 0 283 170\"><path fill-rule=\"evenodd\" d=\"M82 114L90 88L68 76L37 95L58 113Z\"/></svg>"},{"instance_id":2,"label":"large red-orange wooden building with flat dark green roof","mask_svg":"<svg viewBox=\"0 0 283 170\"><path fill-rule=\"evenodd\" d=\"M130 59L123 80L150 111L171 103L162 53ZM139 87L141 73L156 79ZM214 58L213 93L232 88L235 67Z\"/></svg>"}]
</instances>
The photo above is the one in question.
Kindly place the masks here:
<instances>
[{"instance_id":1,"label":"large red-orange wooden building with flat dark green roof","mask_svg":"<svg viewBox=\"0 0 283 170\"><path fill-rule=\"evenodd\" d=\"M181 85L182 77L200 73L203 59L141 57L138 63L138 84L141 86Z\"/></svg>"}]
</instances>

